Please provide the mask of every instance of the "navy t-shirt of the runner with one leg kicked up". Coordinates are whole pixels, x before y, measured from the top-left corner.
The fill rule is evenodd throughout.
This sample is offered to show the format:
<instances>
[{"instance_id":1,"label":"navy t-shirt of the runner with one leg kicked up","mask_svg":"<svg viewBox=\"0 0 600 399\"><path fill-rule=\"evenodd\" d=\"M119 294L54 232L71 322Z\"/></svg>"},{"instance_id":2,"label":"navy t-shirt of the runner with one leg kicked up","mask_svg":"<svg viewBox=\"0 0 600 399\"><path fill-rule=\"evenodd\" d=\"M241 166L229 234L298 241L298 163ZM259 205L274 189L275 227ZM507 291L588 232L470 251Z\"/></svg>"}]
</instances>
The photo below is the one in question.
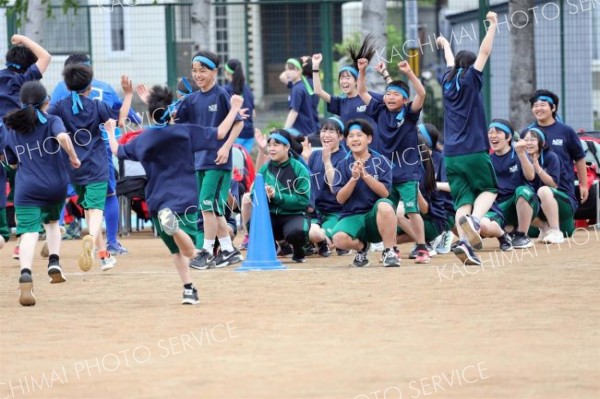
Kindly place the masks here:
<instances>
[{"instance_id":1,"label":"navy t-shirt of the runner with one leg kicked up","mask_svg":"<svg viewBox=\"0 0 600 399\"><path fill-rule=\"evenodd\" d=\"M117 157L138 161L146 171L146 201L152 215L163 208L198 212L194 152L217 148L216 127L175 124L144 130L119 146Z\"/></svg>"}]
</instances>

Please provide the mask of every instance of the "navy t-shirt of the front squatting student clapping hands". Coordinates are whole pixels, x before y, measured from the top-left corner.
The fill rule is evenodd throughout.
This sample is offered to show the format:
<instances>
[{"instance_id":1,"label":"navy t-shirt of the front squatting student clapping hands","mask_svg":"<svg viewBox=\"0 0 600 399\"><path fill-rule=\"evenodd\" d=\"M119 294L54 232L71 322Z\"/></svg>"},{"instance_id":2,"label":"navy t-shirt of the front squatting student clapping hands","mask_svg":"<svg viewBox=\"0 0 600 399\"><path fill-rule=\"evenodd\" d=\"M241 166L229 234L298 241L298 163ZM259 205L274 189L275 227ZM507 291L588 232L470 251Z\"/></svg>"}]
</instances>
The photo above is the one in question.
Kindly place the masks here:
<instances>
[{"instance_id":1,"label":"navy t-shirt of the front squatting student clapping hands","mask_svg":"<svg viewBox=\"0 0 600 399\"><path fill-rule=\"evenodd\" d=\"M368 174L372 175L375 179L382 182L388 190L392 189L392 170L390 168L390 161L385 159L383 155L374 153L369 150L371 157L365 162L365 170ZM337 196L337 193L352 179L352 165L354 164L354 157L352 153L348 153L344 159L338 162L336 169L339 173L336 173L333 192ZM342 204L342 213L340 219L356 214L363 214L369 212L373 205L379 201L381 197L367 186L363 179L358 179L354 191L348 198L348 200Z\"/></svg>"}]
</instances>

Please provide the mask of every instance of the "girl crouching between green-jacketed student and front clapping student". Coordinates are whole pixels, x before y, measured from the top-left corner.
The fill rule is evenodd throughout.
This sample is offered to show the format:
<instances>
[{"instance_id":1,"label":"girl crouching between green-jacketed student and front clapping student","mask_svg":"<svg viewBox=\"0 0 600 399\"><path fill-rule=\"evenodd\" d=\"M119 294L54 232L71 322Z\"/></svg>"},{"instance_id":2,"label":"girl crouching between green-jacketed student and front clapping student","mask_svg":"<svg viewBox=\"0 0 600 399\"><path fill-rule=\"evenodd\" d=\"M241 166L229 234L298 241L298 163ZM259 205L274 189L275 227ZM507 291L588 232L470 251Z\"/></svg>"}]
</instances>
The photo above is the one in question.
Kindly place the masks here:
<instances>
[{"instance_id":1,"label":"girl crouching between green-jacketed student and front clapping student","mask_svg":"<svg viewBox=\"0 0 600 399\"><path fill-rule=\"evenodd\" d=\"M311 214L309 240L319 247L321 256L329 256L329 243L332 231L339 221L342 206L333 194L336 181L337 164L346 157L346 151L340 147L344 138L344 123L336 117L327 118L321 124L319 132L322 150L314 151L308 158L308 168L311 171L311 187L315 194L315 210ZM338 249L338 254L344 255L344 250Z\"/></svg>"}]
</instances>

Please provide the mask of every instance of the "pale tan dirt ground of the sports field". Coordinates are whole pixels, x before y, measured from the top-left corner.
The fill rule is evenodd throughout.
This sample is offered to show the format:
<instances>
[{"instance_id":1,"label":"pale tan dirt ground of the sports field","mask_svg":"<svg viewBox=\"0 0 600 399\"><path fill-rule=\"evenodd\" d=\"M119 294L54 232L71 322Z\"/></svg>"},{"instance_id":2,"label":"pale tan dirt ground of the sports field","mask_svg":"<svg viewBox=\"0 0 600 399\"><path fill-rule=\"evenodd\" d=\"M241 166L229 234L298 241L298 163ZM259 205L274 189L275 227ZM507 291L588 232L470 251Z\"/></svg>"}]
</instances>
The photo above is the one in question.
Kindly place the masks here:
<instances>
[{"instance_id":1,"label":"pale tan dirt ground of the sports field","mask_svg":"<svg viewBox=\"0 0 600 399\"><path fill-rule=\"evenodd\" d=\"M37 305L18 304L14 241L0 252L3 398L596 398L600 233L511 254L486 240L481 268L453 255L364 269L351 257L288 270L193 271L182 288L162 243L68 281L36 259ZM39 248L39 247L38 247ZM403 245L402 253L410 247Z\"/></svg>"}]
</instances>

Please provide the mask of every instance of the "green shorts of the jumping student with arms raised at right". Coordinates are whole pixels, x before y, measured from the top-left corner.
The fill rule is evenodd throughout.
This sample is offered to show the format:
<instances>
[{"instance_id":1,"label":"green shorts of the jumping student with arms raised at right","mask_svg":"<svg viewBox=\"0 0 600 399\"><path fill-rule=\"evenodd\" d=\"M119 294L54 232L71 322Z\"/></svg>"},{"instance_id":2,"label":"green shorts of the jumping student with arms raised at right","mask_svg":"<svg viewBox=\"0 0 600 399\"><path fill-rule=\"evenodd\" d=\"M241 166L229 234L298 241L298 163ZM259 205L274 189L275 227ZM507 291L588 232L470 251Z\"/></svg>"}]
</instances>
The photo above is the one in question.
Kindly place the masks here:
<instances>
[{"instance_id":1,"label":"green shorts of the jumping student with arms raised at right","mask_svg":"<svg viewBox=\"0 0 600 399\"><path fill-rule=\"evenodd\" d=\"M454 209L473 205L483 192L497 193L494 167L487 151L444 157Z\"/></svg>"}]
</instances>

